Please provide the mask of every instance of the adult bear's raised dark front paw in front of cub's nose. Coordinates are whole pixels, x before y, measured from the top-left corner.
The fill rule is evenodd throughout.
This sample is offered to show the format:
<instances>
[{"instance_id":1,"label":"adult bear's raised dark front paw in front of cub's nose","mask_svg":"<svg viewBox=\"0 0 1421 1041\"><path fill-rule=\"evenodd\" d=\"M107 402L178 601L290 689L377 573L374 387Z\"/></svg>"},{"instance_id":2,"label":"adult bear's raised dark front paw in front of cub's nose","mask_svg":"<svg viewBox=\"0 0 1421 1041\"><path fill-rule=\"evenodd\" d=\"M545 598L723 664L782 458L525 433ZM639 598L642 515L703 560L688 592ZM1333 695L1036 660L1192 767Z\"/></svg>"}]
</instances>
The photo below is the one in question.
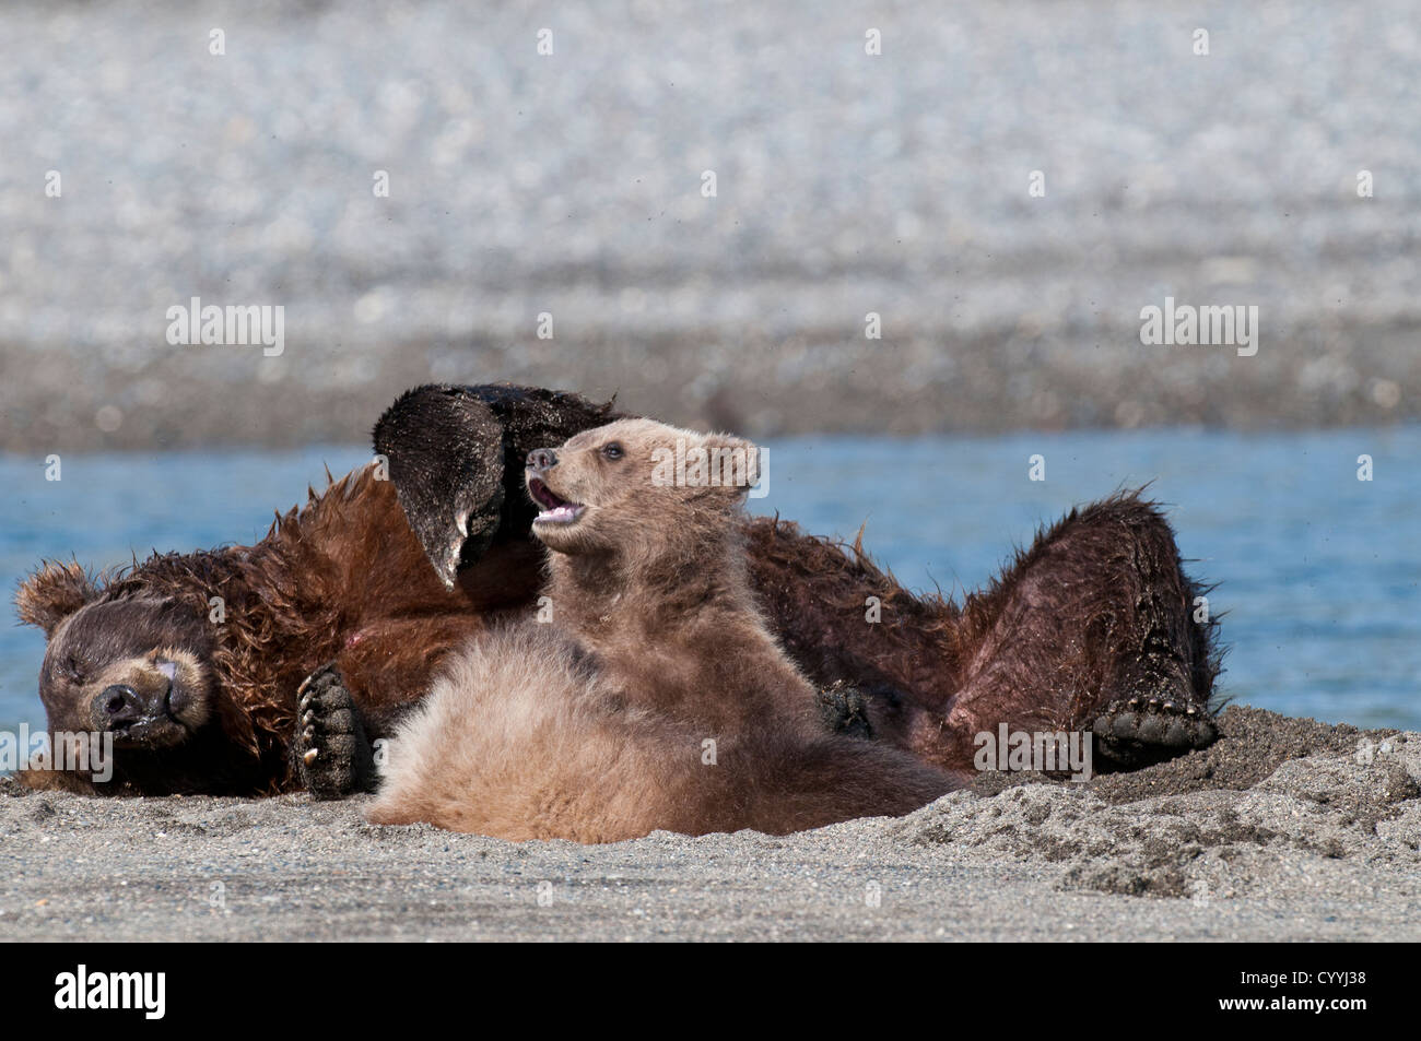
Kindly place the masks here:
<instances>
[{"instance_id":1,"label":"adult bear's raised dark front paw in front of cub's nose","mask_svg":"<svg viewBox=\"0 0 1421 1041\"><path fill-rule=\"evenodd\" d=\"M375 452L425 555L453 588L503 517L503 423L469 388L416 386L375 423Z\"/></svg>"}]
</instances>

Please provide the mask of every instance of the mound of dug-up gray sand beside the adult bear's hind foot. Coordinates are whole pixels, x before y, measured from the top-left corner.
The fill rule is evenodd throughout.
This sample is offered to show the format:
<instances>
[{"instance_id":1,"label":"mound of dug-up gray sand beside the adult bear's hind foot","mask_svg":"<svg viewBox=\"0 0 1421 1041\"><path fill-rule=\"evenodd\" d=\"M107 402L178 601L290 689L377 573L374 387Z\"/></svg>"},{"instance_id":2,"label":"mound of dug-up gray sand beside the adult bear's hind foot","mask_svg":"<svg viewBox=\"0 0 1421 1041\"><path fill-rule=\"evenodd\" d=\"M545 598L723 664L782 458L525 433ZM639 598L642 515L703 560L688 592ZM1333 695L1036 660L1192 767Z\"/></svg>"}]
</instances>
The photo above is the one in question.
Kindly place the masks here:
<instances>
[{"instance_id":1,"label":"mound of dug-up gray sand beside the adult bear's hind foot","mask_svg":"<svg viewBox=\"0 0 1421 1041\"><path fill-rule=\"evenodd\" d=\"M1090 784L988 774L887 828L1060 865L1064 889L1209 900L1326 859L1421 868L1421 738L1231 707L1202 751ZM995 794L993 794L995 792Z\"/></svg>"}]
</instances>

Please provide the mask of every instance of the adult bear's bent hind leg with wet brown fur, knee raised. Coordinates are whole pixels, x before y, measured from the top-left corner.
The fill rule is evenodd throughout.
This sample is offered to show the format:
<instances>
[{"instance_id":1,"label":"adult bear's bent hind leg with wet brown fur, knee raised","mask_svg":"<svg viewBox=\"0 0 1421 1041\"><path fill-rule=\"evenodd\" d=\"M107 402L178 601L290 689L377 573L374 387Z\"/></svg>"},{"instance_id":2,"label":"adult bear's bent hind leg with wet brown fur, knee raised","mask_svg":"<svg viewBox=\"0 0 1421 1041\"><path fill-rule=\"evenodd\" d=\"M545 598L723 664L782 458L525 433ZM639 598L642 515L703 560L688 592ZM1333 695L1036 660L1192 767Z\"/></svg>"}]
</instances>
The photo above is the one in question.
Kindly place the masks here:
<instances>
[{"instance_id":1,"label":"adult bear's bent hind leg with wet brown fur, knee raised","mask_svg":"<svg viewBox=\"0 0 1421 1041\"><path fill-rule=\"evenodd\" d=\"M1138 494L1073 510L968 598L962 686L945 719L915 723L914 750L971 764L978 736L1002 723L1090 730L1117 768L1208 744L1218 653L1199 594L1168 521Z\"/></svg>"}]
</instances>

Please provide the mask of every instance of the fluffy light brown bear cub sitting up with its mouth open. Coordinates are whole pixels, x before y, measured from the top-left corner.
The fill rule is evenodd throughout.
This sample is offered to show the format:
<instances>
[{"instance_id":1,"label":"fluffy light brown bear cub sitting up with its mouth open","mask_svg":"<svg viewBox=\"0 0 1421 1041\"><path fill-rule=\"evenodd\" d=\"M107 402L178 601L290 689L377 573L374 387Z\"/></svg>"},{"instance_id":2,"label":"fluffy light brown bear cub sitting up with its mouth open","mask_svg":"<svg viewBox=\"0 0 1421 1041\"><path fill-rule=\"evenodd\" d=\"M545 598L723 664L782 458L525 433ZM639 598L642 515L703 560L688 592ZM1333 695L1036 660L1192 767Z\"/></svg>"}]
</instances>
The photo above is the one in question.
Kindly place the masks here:
<instances>
[{"instance_id":1,"label":"fluffy light brown bear cub sitting up with its mouth open","mask_svg":"<svg viewBox=\"0 0 1421 1041\"><path fill-rule=\"evenodd\" d=\"M377 824L615 842L786 834L909 812L955 787L826 731L750 588L757 452L624 419L529 456L544 609L475 638L401 726Z\"/></svg>"}]
</instances>

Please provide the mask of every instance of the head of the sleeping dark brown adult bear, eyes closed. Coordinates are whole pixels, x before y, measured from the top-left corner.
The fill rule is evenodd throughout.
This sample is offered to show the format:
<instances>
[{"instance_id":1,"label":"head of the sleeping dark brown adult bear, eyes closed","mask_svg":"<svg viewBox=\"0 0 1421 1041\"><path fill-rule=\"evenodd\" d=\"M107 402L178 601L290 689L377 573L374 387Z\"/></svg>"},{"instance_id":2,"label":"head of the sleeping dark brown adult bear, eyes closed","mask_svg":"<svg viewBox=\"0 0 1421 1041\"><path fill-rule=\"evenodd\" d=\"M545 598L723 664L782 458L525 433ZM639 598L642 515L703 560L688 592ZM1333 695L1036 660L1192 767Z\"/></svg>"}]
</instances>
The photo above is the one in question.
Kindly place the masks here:
<instances>
[{"instance_id":1,"label":"head of the sleeping dark brown adult bear, eyes closed","mask_svg":"<svg viewBox=\"0 0 1421 1041\"><path fill-rule=\"evenodd\" d=\"M190 606L105 591L78 564L45 564L16 594L44 629L50 733L109 733L115 748L171 748L213 713L210 626Z\"/></svg>"}]
</instances>

